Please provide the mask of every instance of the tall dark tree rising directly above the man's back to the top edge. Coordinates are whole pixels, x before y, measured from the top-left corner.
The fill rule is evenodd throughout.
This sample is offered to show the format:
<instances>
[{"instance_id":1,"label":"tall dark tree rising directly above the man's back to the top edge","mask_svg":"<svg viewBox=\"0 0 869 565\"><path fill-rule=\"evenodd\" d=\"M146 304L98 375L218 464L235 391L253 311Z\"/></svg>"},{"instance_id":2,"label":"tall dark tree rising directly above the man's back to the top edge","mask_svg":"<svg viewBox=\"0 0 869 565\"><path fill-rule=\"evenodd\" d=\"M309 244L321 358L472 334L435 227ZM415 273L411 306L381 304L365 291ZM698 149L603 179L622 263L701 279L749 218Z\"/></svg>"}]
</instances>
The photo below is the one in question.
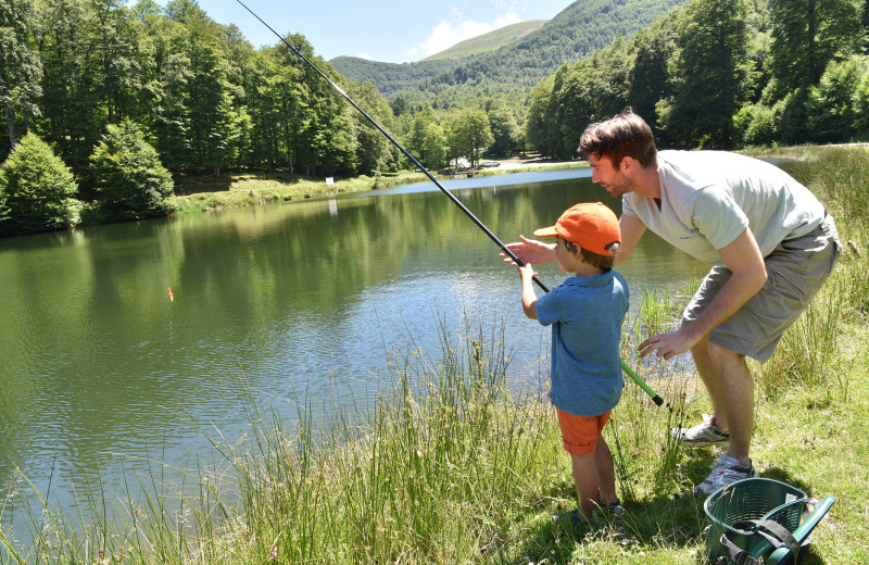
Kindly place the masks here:
<instances>
[{"instance_id":1,"label":"tall dark tree rising directly above the man's back to the top edge","mask_svg":"<svg viewBox=\"0 0 869 565\"><path fill-rule=\"evenodd\" d=\"M726 147L733 116L753 89L745 0L692 0L678 25L673 96L659 125L680 145Z\"/></svg>"}]
</instances>

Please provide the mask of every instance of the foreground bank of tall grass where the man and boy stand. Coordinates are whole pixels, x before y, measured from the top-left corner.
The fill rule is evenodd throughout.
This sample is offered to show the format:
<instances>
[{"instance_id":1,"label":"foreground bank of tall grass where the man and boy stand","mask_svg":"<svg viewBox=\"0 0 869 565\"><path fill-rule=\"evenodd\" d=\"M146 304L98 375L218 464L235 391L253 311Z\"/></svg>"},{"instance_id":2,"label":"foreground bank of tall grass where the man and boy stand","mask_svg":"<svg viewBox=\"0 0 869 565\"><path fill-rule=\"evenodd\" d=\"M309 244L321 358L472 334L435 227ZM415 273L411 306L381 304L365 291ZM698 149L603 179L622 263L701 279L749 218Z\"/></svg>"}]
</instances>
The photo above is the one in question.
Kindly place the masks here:
<instances>
[{"instance_id":1,"label":"foreground bank of tall grass where the man and boy stand","mask_svg":"<svg viewBox=\"0 0 869 565\"><path fill-rule=\"evenodd\" d=\"M752 455L764 477L839 498L806 563L869 563L869 155L799 152L790 172L835 215L847 252L773 359L752 367ZM102 501L83 501L85 510L70 516L25 492L36 501L36 543L21 548L4 499L0 562L702 563L703 500L691 490L715 454L683 449L667 429L696 422L708 401L689 364L640 364L632 354L644 336L677 323L691 290L633 292L640 305L622 359L666 403L655 406L628 381L607 427L621 519L602 517L595 528L559 519L576 499L547 401L508 388L509 344L500 328L440 321L442 348L407 343L388 360L391 386L369 411L344 407L328 422L301 417L290 428L251 400L240 423L245 441L203 429L218 462L191 469L182 492L143 489L155 494L118 503L116 519L105 518Z\"/></svg>"}]
</instances>

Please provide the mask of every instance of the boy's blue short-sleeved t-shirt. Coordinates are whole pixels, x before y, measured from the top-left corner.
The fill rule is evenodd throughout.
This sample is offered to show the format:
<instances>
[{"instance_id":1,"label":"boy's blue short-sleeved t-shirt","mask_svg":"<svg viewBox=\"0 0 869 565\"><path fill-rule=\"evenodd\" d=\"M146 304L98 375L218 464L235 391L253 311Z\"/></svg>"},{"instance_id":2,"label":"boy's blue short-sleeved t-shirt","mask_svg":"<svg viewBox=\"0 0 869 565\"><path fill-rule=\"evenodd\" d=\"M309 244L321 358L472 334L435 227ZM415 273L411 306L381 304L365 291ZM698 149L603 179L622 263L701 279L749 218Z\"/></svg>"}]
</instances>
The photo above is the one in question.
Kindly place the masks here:
<instances>
[{"instance_id":1,"label":"boy's blue short-sleeved t-shirt","mask_svg":"<svg viewBox=\"0 0 869 565\"><path fill-rule=\"evenodd\" d=\"M628 284L617 271L570 277L537 301L537 317L552 325L552 390L558 410L600 416L621 398L619 341Z\"/></svg>"}]
</instances>

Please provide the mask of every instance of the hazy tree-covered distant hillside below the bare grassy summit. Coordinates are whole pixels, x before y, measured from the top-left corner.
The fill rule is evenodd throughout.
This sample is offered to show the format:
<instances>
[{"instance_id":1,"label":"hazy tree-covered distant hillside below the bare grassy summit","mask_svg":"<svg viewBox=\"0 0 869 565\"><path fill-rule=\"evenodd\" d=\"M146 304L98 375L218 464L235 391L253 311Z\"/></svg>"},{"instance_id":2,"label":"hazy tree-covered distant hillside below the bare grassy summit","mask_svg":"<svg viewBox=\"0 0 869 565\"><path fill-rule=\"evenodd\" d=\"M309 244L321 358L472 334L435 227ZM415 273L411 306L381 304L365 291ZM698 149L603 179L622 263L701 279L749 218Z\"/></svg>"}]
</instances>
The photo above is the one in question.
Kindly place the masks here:
<instances>
[{"instance_id":1,"label":"hazy tree-covered distant hillside below the bare grassy summit","mask_svg":"<svg viewBox=\"0 0 869 565\"><path fill-rule=\"evenodd\" d=\"M504 47L465 59L378 63L354 58L331 61L353 80L374 80L388 97L406 99L524 92L561 65L588 56L618 36L633 37L658 16L688 0L578 0L539 29Z\"/></svg>"}]
</instances>

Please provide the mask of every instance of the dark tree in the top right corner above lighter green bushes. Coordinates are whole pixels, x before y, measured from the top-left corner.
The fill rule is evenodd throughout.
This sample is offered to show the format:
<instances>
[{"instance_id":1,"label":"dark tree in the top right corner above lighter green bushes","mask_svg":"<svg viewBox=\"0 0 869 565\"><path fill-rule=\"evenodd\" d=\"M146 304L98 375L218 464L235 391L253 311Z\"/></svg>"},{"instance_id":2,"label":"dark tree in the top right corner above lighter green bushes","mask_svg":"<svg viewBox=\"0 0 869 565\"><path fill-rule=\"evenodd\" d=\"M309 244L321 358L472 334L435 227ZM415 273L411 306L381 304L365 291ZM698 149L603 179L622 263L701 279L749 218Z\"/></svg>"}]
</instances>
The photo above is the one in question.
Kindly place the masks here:
<instances>
[{"instance_id":1,"label":"dark tree in the top right corner above lighter green bushes","mask_svg":"<svg viewBox=\"0 0 869 565\"><path fill-rule=\"evenodd\" d=\"M858 0L771 0L772 76L785 92L816 84L835 56L862 47Z\"/></svg>"}]
</instances>

